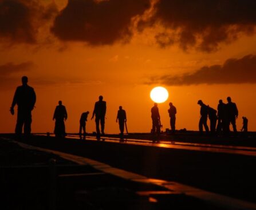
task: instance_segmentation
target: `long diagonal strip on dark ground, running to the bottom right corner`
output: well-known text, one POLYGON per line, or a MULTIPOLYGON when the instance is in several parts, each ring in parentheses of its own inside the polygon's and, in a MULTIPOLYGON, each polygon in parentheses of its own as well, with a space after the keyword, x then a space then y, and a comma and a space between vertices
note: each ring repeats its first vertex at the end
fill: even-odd
MULTIPOLYGON (((12 140, 11 140, 12 141, 12 140)), ((175 192, 175 193, 183 193, 184 195, 195 197, 196 199, 200 199, 202 201, 206 201, 209 204, 215 205, 219 208, 225 208, 225 209, 233 209, 233 210, 250 210, 250 209, 256 209, 256 204, 250 203, 247 201, 239 200, 239 199, 233 199, 228 196, 219 195, 217 193, 212 193, 208 191, 203 191, 202 189, 190 187, 188 185, 176 183, 173 181, 165 181, 165 180, 159 180, 159 179, 149 179, 145 176, 137 175, 136 173, 127 172, 122 169, 113 168, 110 165, 100 163, 99 161, 91 160, 86 157, 81 156, 75 156, 73 154, 58 152, 56 150, 50 150, 50 149, 43 149, 36 146, 31 146, 27 144, 23 144, 21 142, 13 141, 17 143, 18 145, 22 146, 25 149, 36 149, 41 150, 43 152, 53 153, 56 154, 66 160, 73 161, 74 163, 80 164, 80 165, 90 165, 95 169, 98 169, 102 172, 109 173, 111 175, 121 177, 125 180, 131 180, 139 183, 148 183, 148 184, 155 184, 160 187, 164 187, 168 189, 169 191, 175 192)))

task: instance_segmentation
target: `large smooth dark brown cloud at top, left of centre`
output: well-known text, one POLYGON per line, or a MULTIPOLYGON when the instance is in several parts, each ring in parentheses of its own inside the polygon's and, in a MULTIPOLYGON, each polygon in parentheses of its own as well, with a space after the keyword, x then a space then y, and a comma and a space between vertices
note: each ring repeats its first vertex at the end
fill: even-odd
POLYGON ((150 0, 69 0, 56 17, 52 32, 64 41, 110 45, 131 37, 132 18, 150 7, 150 0))

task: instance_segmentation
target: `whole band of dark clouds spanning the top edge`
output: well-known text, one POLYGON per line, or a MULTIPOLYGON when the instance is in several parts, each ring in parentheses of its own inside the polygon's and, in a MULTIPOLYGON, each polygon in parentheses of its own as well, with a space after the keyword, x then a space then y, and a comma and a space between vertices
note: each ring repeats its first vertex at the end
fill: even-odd
POLYGON ((64 42, 112 45, 151 28, 160 47, 211 52, 254 35, 255 11, 255 0, 69 0, 61 11, 54 1, 0 0, 0 41, 35 44, 47 24, 64 42))

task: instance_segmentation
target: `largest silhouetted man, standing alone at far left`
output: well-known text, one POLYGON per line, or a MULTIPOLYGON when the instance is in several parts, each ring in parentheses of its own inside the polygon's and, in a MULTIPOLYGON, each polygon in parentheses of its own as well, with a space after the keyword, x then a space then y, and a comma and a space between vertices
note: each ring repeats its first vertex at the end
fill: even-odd
POLYGON ((18 105, 17 123, 15 126, 15 133, 21 134, 24 125, 24 134, 31 133, 32 116, 31 111, 36 104, 36 93, 34 89, 27 85, 28 78, 23 76, 21 78, 22 85, 18 86, 14 93, 13 102, 11 104, 10 112, 14 115, 14 106, 18 105))

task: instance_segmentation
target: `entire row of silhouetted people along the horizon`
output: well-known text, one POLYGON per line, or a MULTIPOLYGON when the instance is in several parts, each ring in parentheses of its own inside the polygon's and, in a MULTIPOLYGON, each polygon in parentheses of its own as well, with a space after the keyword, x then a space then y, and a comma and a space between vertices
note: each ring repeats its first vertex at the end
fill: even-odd
MULTIPOLYGON (((36 93, 34 89, 27 85, 28 79, 26 76, 22 77, 22 85, 18 86, 15 91, 13 103, 11 104, 10 112, 14 114, 14 106, 18 106, 17 113, 17 124, 15 126, 15 133, 22 134, 22 128, 24 129, 25 134, 31 133, 31 111, 34 109, 34 105, 36 104, 36 93)), ((103 101, 103 96, 99 97, 99 101, 95 102, 94 110, 92 114, 91 120, 95 116, 96 123, 96 134, 99 137, 100 134, 104 133, 105 128, 105 114, 107 110, 107 103, 103 101), (101 127, 101 129, 100 129, 101 127)), ((209 105, 205 105, 202 100, 198 101, 198 104, 201 106, 200 108, 200 120, 199 120, 199 132, 203 132, 203 127, 207 133, 223 133, 228 134, 230 132, 230 124, 233 126, 234 133, 237 133, 237 125, 236 119, 238 118, 238 109, 237 105, 231 101, 230 97, 227 97, 227 104, 223 103, 222 100, 219 100, 218 108, 215 110, 211 108, 209 105), (207 125, 207 119, 210 120, 210 130, 207 125)), ((175 106, 170 102, 170 109, 168 109, 168 114, 170 117, 170 126, 171 132, 175 133, 175 122, 176 122, 176 113, 177 110, 175 106)), ((84 112, 80 117, 80 128, 79 134, 86 134, 86 121, 88 118, 89 112, 84 112)), ((58 101, 58 106, 53 114, 53 120, 55 120, 54 134, 56 137, 65 137, 65 120, 68 118, 68 113, 64 105, 62 105, 62 101, 58 101)), ((160 121, 160 114, 157 104, 151 108, 151 118, 152 118, 152 134, 160 134, 160 129, 162 128, 162 124, 160 121)), ((243 118, 243 127, 242 131, 247 132, 248 120, 246 117, 243 118)), ((119 106, 119 110, 117 112, 116 122, 119 122, 120 135, 124 134, 124 126, 127 130, 127 116, 126 112, 122 106, 119 106)))

